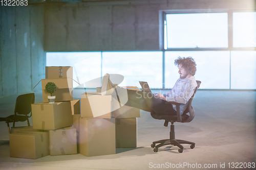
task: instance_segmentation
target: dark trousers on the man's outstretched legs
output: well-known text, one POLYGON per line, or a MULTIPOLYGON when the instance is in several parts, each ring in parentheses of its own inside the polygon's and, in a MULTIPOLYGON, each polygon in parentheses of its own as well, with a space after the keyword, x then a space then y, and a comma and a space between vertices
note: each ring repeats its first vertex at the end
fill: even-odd
POLYGON ((158 115, 176 115, 176 110, 171 104, 166 104, 165 100, 157 98, 151 92, 127 89, 128 100, 124 105, 135 107, 148 112, 155 112, 158 115))

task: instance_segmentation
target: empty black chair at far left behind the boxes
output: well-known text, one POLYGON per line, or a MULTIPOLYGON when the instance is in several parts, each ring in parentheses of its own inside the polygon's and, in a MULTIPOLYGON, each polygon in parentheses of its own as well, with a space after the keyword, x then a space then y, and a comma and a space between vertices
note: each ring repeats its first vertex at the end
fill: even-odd
POLYGON ((9 133, 11 133, 9 123, 13 123, 12 127, 14 128, 15 122, 25 122, 27 120, 28 126, 30 126, 29 117, 32 116, 31 104, 34 103, 34 93, 28 93, 17 96, 14 114, 7 117, 0 117, 0 122, 5 121, 7 123, 9 133), (31 114, 28 115, 29 113, 31 114))

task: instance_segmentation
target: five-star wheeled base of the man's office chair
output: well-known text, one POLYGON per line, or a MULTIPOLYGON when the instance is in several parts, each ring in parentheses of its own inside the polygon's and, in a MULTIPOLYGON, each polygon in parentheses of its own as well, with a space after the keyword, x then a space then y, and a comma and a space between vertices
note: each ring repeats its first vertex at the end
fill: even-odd
POLYGON ((179 151, 179 153, 182 153, 184 147, 181 144, 191 144, 190 148, 194 149, 196 143, 190 142, 187 140, 180 140, 180 139, 171 139, 171 140, 163 139, 163 140, 154 141, 153 144, 151 144, 151 148, 154 148, 154 152, 158 152, 158 148, 160 148, 164 145, 174 145, 174 146, 179 147, 180 149, 178 151, 179 151), (160 144, 156 145, 156 143, 160 143, 160 144))

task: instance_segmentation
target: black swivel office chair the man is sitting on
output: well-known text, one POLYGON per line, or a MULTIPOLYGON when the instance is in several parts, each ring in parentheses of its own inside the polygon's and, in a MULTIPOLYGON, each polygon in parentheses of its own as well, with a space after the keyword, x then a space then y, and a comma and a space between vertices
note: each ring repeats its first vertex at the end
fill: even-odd
POLYGON ((193 120, 193 118, 195 117, 195 111, 193 109, 193 107, 191 106, 192 100, 195 96, 195 93, 197 92, 197 89, 200 87, 201 81, 197 81, 197 87, 194 91, 194 94, 191 96, 191 98, 188 101, 188 105, 186 110, 183 112, 183 114, 180 113, 180 103, 176 103, 176 102, 166 102, 167 104, 175 104, 176 105, 176 110, 177 110, 177 115, 158 115, 155 112, 151 113, 151 116, 155 119, 164 119, 164 126, 167 127, 168 123, 172 123, 172 125, 170 125, 170 138, 169 139, 163 139, 163 140, 158 140, 158 141, 154 141, 153 144, 151 144, 151 147, 154 148, 154 152, 158 152, 158 148, 162 147, 163 145, 175 145, 177 147, 179 147, 180 149, 178 150, 179 153, 183 152, 183 146, 181 144, 191 144, 190 148, 193 149, 195 148, 195 143, 194 142, 190 142, 190 141, 186 141, 186 140, 180 140, 180 139, 175 139, 175 131, 174 131, 174 123, 175 122, 181 122, 181 123, 188 123, 191 122, 191 120, 193 120), (189 115, 187 115, 187 113, 189 113, 189 115), (160 143, 158 145, 156 145, 156 143, 160 143))

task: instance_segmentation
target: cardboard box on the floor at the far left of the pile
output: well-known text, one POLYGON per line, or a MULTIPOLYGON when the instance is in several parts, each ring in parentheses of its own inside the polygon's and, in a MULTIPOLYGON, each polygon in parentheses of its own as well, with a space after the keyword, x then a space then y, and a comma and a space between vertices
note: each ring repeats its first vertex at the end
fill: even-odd
POLYGON ((10 157, 37 159, 49 155, 48 132, 11 133, 10 157))

